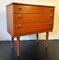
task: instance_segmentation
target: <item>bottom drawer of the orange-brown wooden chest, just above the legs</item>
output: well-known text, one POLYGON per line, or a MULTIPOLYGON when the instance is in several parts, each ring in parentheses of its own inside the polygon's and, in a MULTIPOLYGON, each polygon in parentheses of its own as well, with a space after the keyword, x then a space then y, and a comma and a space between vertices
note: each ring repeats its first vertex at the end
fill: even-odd
POLYGON ((14 33, 28 33, 34 31, 50 31, 52 30, 52 22, 47 23, 25 23, 25 24, 14 24, 14 33))

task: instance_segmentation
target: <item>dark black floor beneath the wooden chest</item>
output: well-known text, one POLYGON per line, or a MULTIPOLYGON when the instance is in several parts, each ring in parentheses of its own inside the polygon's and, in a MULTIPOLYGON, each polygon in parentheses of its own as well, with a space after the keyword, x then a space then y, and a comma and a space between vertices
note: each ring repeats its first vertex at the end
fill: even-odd
POLYGON ((49 41, 48 49, 45 41, 21 41, 20 57, 17 57, 16 42, 14 49, 11 41, 0 42, 0 60, 59 60, 59 40, 49 41))

